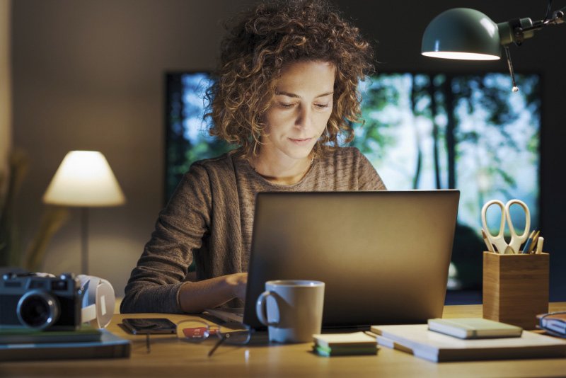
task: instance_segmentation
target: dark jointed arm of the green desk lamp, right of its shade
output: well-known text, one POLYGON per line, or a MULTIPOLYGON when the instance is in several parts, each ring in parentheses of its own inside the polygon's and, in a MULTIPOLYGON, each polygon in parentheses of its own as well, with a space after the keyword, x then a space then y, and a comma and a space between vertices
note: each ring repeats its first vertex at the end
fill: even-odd
POLYGON ((498 23, 497 28, 499 29, 501 44, 504 46, 509 45, 509 43, 521 45, 524 40, 532 38, 537 30, 541 30, 546 25, 564 23, 565 13, 566 6, 558 11, 554 11, 553 15, 545 20, 533 22, 531 18, 516 18, 504 23, 498 23))

